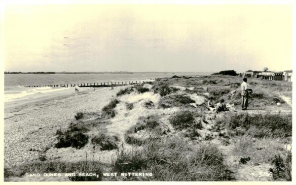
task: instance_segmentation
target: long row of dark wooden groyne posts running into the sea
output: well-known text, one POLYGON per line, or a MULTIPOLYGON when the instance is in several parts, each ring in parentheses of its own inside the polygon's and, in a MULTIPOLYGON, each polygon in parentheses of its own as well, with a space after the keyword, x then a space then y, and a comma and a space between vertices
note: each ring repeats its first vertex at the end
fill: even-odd
POLYGON ((101 88, 101 87, 116 87, 116 86, 127 86, 127 85, 134 85, 134 84, 141 84, 148 82, 148 80, 155 80, 156 78, 148 78, 143 79, 140 81, 121 81, 121 82, 101 82, 101 83, 83 83, 83 84, 57 84, 57 85, 38 85, 38 86, 27 86, 27 87, 52 87, 52 88, 69 88, 69 87, 79 87, 79 88, 101 88))

